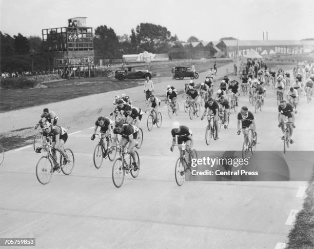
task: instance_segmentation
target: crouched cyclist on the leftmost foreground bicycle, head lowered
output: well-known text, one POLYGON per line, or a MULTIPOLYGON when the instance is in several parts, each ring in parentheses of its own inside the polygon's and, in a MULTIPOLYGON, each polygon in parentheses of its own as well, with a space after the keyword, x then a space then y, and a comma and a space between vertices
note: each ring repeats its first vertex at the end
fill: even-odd
MULTIPOLYGON (((43 122, 43 144, 46 143, 47 141, 47 136, 51 136, 52 137, 52 142, 51 142, 51 146, 52 146, 52 157, 55 159, 55 161, 57 161, 57 156, 55 153, 55 150, 57 150, 58 152, 60 152, 63 155, 64 161, 63 163, 66 164, 69 162, 69 158, 68 155, 66 153, 66 151, 64 150, 63 146, 65 144, 65 142, 68 139, 68 134, 66 129, 64 129, 61 126, 49 126, 48 122, 43 122)), ((36 152, 37 153, 41 153, 41 149, 42 148, 36 148, 36 152)), ((54 165, 54 170, 56 170, 57 168, 60 168, 60 165, 55 164, 54 165)))

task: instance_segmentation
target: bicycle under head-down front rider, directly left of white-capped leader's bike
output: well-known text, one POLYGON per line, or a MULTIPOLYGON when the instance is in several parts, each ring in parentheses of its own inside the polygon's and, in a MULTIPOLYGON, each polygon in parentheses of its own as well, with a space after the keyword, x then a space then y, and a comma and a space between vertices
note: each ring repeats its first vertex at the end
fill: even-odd
POLYGON ((125 160, 125 154, 127 154, 126 147, 125 146, 116 146, 117 149, 119 149, 120 156, 116 158, 112 165, 112 182, 116 186, 116 188, 120 188, 124 181, 125 173, 131 173, 131 176, 133 178, 138 177, 139 171, 140 171, 140 157, 139 153, 135 151, 136 157, 138 159, 138 164, 136 165, 136 168, 134 168, 133 165, 133 159, 131 154, 129 158, 129 164, 125 160))

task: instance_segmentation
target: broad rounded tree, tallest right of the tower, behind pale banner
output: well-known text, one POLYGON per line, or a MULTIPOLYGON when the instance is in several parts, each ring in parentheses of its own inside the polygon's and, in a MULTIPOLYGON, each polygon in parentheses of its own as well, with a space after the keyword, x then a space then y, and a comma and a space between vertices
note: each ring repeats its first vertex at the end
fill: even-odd
MULTIPOLYGON (((131 40, 132 36, 134 35, 131 35, 131 40)), ((166 27, 149 23, 136 26, 136 41, 141 51, 166 53, 171 39, 173 37, 166 27)))

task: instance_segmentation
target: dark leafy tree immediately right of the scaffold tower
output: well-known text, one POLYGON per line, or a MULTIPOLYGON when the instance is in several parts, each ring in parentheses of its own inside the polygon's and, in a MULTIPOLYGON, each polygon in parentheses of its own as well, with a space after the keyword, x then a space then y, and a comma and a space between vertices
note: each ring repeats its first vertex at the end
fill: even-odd
POLYGON ((112 28, 106 25, 95 29, 94 50, 97 56, 111 58, 121 58, 119 51, 119 39, 112 28))

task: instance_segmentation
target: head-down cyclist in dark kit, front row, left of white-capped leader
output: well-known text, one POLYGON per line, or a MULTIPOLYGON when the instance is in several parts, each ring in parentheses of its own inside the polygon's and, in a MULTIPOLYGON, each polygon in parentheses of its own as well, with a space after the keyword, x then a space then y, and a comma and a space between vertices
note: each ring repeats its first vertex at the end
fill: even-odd
POLYGON ((126 147, 128 144, 127 152, 130 153, 133 158, 132 165, 130 165, 131 169, 133 168, 133 171, 138 170, 138 159, 134 151, 136 138, 138 137, 138 128, 132 124, 124 123, 124 121, 120 119, 115 121, 114 126, 116 133, 122 135, 120 145, 126 147))

